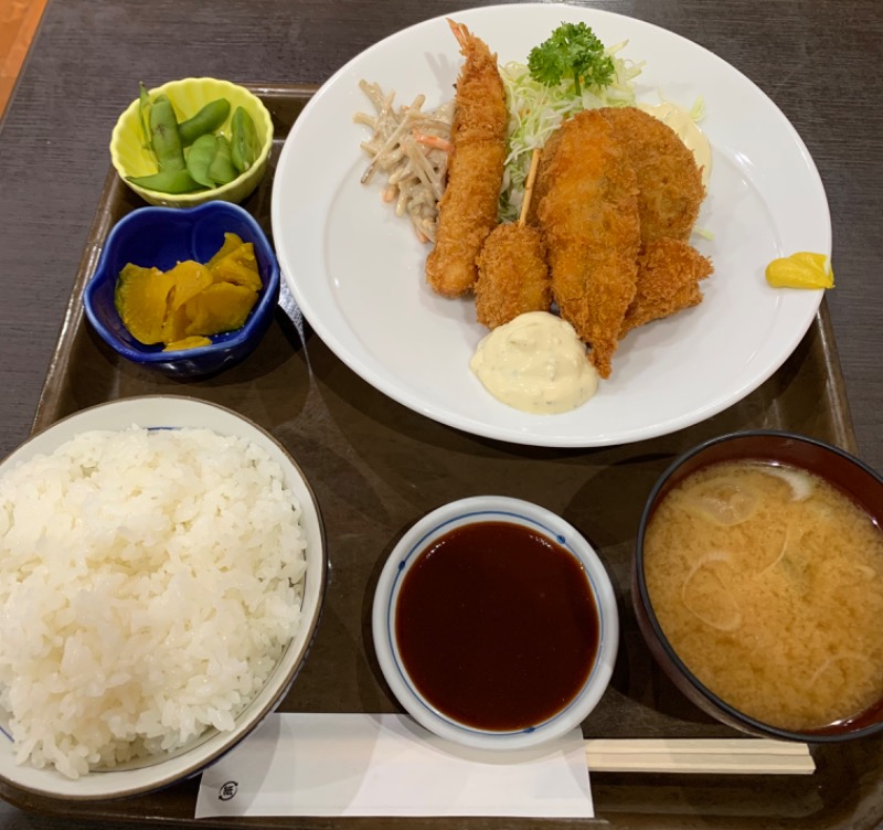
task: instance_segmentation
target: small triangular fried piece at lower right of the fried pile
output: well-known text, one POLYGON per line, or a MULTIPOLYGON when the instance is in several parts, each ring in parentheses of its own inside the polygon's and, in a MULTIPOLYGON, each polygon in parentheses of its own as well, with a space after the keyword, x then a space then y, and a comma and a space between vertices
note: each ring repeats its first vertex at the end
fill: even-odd
POLYGON ((702 302, 699 283, 713 272, 711 260, 680 240, 656 240, 638 257, 638 285, 619 337, 651 320, 702 302))

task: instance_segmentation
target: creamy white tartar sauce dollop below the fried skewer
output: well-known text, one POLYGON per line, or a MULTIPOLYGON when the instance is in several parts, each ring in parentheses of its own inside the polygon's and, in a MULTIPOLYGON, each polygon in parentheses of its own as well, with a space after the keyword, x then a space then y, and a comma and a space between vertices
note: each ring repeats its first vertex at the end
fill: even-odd
POLYGON ((538 415, 570 412, 598 386, 573 326, 547 311, 530 311, 493 329, 469 366, 498 401, 538 415))

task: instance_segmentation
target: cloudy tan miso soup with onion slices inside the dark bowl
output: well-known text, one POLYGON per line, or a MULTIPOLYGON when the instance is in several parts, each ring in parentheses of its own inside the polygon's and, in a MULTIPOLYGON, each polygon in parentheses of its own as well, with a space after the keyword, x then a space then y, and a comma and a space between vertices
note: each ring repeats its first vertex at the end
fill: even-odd
POLYGON ((745 714, 812 730, 883 698, 883 531, 818 476, 699 470, 657 508, 645 575, 679 657, 745 714))

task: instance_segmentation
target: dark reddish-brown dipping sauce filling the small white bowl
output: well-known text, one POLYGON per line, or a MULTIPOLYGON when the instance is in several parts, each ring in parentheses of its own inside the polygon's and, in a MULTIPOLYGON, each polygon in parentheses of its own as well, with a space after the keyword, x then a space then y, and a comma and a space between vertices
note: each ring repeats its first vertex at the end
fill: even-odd
POLYGON ((508 732, 547 721, 579 692, 598 651, 598 609, 564 547, 518 524, 479 522, 418 554, 395 636, 413 683, 442 714, 508 732))

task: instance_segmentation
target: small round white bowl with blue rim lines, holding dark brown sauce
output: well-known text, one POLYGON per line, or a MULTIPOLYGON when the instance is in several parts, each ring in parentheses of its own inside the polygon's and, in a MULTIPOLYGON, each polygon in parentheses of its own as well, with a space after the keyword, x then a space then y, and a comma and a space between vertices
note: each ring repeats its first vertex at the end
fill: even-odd
POLYGON ((374 594, 374 647, 398 702, 480 749, 561 737, 597 705, 619 617, 595 551, 519 499, 451 502, 411 526, 374 594))

